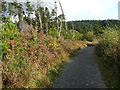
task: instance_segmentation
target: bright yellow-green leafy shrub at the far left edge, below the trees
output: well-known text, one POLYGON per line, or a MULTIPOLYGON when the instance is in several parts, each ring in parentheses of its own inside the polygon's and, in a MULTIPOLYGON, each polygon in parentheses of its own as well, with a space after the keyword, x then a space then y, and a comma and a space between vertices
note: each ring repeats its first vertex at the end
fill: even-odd
POLYGON ((18 35, 19 35, 19 31, 13 23, 8 22, 7 24, 1 26, 1 36, 2 37, 0 38, 0 40, 2 42, 0 42, 0 45, 2 46, 2 57, 3 58, 10 51, 10 40, 13 40, 13 42, 15 40, 16 45, 19 44, 18 43, 19 38, 17 38, 18 35), (6 41, 6 40, 8 40, 8 41, 6 41))

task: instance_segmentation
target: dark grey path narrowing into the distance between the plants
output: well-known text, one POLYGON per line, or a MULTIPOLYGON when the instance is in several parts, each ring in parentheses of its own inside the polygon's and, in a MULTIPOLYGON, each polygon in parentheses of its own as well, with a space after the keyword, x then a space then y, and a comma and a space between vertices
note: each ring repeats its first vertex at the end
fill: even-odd
POLYGON ((78 51, 65 66, 53 88, 106 88, 93 55, 94 47, 78 51))

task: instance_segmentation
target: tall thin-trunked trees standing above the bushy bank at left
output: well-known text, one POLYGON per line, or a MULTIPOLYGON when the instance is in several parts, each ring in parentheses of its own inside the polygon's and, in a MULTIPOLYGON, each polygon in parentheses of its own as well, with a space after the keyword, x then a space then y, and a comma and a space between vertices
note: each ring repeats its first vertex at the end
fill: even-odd
POLYGON ((11 21, 14 20, 14 23, 20 31, 27 30, 25 27, 28 24, 37 30, 37 32, 42 31, 48 33, 49 29, 55 28, 59 31, 60 36, 62 30, 66 29, 66 22, 64 12, 58 15, 56 3, 53 4, 54 8, 50 9, 43 7, 41 1, 32 4, 29 0, 25 3, 17 1, 6 2, 3 0, 0 2, 0 7, 2 8, 0 18, 3 24, 8 23, 9 19, 11 21))

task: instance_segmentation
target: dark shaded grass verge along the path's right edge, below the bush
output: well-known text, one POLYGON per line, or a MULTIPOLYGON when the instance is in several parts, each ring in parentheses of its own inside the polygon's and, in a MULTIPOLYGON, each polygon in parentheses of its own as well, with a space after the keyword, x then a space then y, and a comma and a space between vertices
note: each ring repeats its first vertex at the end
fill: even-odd
POLYGON ((94 54, 106 86, 108 88, 120 88, 118 67, 107 58, 97 56, 96 51, 94 54))

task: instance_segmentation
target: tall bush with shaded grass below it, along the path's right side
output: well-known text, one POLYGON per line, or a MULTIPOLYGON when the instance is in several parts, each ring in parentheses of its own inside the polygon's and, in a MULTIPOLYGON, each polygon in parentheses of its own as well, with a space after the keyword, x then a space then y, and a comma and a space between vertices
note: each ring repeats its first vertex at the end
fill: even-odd
POLYGON ((96 55, 106 84, 110 88, 119 88, 120 77, 120 31, 108 28, 100 36, 96 46, 96 55))

